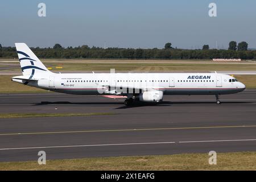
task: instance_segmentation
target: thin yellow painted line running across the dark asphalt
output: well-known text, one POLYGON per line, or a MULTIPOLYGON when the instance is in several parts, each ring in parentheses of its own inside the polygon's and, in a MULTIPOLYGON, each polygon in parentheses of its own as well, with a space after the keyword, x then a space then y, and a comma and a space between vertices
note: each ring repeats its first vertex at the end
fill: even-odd
POLYGON ((167 127, 154 129, 116 129, 116 130, 81 130, 81 131, 49 131, 35 133, 3 133, 0 136, 10 135, 43 135, 43 134, 68 134, 68 133, 98 133, 98 132, 117 132, 117 131, 156 131, 156 130, 192 130, 192 129, 223 129, 223 128, 241 128, 241 127, 256 127, 256 125, 245 126, 202 126, 202 127, 167 127))

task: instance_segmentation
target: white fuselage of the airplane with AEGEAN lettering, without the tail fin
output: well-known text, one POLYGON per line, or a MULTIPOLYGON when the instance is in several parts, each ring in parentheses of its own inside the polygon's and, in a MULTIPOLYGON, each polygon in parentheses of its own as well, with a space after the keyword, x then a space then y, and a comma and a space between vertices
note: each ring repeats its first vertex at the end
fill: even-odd
POLYGON ((108 94, 126 88, 161 90, 164 94, 232 94, 245 89, 235 78, 219 73, 53 73, 27 85, 68 94, 108 94), (230 81, 231 79, 231 81, 230 81))

